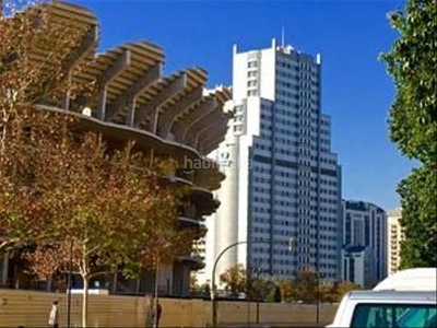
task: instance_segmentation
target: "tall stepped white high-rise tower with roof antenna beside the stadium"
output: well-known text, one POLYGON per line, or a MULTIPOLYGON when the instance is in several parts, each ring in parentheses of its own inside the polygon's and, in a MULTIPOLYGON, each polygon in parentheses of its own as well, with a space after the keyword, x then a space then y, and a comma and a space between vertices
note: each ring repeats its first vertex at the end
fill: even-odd
MULTIPOLYGON (((341 169, 321 113, 321 58, 277 47, 233 56, 235 115, 213 154, 226 179, 208 220, 206 267, 243 263, 271 278, 341 274, 341 169), (292 247, 291 247, 292 246, 292 247)), ((217 277, 216 276, 216 277, 217 277)))

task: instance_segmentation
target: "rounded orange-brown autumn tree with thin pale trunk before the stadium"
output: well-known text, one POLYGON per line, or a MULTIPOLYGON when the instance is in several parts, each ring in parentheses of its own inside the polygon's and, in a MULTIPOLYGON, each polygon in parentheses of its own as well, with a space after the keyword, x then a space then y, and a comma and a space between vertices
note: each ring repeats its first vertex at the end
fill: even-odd
POLYGON ((94 133, 72 137, 67 130, 61 142, 47 143, 40 152, 34 184, 46 190, 56 215, 42 227, 46 236, 35 241, 37 249, 26 259, 38 277, 67 271, 72 243, 73 269, 83 282, 82 327, 86 327, 93 278, 119 266, 126 277, 134 277, 142 268, 156 268, 175 251, 186 250, 192 239, 178 231, 178 192, 162 184, 162 173, 151 169, 141 153, 129 145, 108 154, 94 133))

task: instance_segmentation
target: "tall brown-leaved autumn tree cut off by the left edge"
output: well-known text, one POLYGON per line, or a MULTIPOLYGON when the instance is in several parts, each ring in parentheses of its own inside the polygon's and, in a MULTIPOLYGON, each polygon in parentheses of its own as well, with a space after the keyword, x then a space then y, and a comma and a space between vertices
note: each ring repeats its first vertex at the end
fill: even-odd
POLYGON ((42 238, 39 227, 52 214, 32 181, 36 153, 43 140, 59 136, 58 127, 73 121, 48 117, 35 105, 43 98, 59 103, 68 91, 81 92, 60 67, 82 34, 56 25, 47 8, 16 11, 28 2, 3 1, 13 15, 0 17, 0 254, 42 238), (47 56, 32 56, 42 50, 47 56))

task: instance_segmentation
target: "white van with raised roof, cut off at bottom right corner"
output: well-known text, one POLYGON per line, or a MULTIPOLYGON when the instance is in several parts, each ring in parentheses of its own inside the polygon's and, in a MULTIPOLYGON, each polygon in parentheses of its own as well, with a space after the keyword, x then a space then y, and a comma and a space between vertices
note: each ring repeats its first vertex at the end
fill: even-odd
POLYGON ((437 327, 436 272, 435 268, 400 271, 373 291, 347 293, 328 327, 437 327))

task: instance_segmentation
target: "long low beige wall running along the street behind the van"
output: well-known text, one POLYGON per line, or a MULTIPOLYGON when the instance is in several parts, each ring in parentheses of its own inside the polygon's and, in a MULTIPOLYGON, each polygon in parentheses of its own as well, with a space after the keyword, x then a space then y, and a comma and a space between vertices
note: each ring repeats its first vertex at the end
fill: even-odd
MULTIPOLYGON (((72 295, 71 326, 80 327, 81 295, 72 295)), ((0 290, 0 327, 45 327, 52 301, 59 301, 60 326, 67 323, 67 295, 56 293, 0 290)), ((161 327, 205 327, 210 303, 198 300, 162 298, 161 327)), ((150 298, 90 295, 88 327, 146 327, 150 298)), ((336 306, 320 305, 320 324, 332 321, 336 306)), ((220 302, 217 319, 244 325, 256 321, 257 305, 245 302, 220 302)), ((260 304, 260 323, 271 326, 315 326, 316 306, 303 304, 260 304)))

